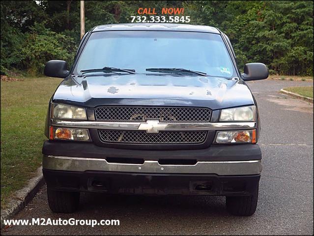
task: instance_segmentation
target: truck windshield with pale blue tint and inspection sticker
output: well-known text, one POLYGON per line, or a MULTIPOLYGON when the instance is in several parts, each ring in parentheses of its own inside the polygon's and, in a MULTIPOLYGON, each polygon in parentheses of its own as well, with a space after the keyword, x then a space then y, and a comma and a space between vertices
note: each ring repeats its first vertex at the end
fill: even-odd
POLYGON ((146 71, 147 68, 184 68, 210 76, 236 76, 221 36, 201 32, 93 32, 74 73, 82 74, 81 70, 105 66, 134 69, 136 73, 145 74, 158 73, 146 71))

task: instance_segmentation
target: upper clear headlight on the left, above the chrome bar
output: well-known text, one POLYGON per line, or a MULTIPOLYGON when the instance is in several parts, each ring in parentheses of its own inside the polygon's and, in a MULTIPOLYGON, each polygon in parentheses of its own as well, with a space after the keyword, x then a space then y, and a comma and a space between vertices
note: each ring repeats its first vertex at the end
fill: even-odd
POLYGON ((87 119, 85 108, 64 104, 52 104, 52 118, 87 119))

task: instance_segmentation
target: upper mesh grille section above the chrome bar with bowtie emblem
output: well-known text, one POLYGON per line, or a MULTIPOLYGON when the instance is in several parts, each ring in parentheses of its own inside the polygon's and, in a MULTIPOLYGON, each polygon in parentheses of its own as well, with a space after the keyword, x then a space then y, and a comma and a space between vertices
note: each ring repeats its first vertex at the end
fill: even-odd
POLYGON ((193 107, 97 107, 96 120, 145 121, 159 119, 167 122, 209 122, 211 110, 193 107))

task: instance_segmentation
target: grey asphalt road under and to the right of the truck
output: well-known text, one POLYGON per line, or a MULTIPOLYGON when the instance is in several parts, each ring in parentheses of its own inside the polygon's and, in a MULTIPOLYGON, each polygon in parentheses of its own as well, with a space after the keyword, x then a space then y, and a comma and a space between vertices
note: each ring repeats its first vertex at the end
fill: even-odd
POLYGON ((119 226, 13 226, 1 235, 313 235, 313 104, 279 93, 312 82, 248 82, 261 117, 257 211, 228 214, 225 197, 82 194, 73 214, 53 213, 43 186, 14 219, 118 219, 119 226))

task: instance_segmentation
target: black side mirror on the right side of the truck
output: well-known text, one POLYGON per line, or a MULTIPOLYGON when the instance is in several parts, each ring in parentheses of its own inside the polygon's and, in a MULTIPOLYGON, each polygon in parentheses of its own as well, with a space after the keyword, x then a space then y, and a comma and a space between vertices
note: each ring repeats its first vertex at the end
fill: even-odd
POLYGON ((244 66, 242 79, 244 81, 264 80, 268 77, 268 69, 263 63, 247 63, 244 66))

